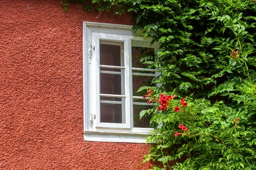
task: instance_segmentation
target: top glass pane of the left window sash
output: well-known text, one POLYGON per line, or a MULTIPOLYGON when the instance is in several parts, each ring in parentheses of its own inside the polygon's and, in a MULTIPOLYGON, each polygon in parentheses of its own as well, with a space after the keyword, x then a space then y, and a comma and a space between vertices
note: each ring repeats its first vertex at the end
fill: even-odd
POLYGON ((109 44, 109 43, 111 43, 111 42, 100 41, 99 64, 100 65, 124 66, 124 59, 123 59, 124 55, 121 54, 121 50, 123 49, 123 43, 115 42, 114 45, 109 44))

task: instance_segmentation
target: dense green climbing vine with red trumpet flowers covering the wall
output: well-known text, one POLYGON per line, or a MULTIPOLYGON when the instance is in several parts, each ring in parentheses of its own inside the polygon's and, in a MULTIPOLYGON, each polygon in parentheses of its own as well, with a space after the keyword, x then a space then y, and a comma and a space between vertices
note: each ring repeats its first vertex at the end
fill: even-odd
POLYGON ((141 59, 162 69, 160 87, 138 90, 157 103, 140 113, 157 143, 144 161, 157 161, 154 170, 256 169, 254 0, 92 0, 84 9, 132 12, 134 32, 160 44, 157 63, 141 59))

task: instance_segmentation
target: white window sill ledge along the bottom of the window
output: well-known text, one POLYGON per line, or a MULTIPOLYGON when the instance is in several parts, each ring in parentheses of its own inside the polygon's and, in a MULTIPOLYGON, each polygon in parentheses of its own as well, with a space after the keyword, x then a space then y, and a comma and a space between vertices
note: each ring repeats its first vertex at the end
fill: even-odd
POLYGON ((84 131, 85 141, 146 143, 150 133, 84 131))

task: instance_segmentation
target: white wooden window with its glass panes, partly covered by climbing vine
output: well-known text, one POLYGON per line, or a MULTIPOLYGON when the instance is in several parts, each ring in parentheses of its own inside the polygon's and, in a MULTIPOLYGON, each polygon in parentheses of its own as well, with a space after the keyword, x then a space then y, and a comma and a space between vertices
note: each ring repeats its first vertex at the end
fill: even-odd
POLYGON ((145 143, 153 130, 139 113, 151 107, 134 92, 160 74, 139 63, 154 60, 157 44, 126 25, 83 23, 84 140, 145 143))

